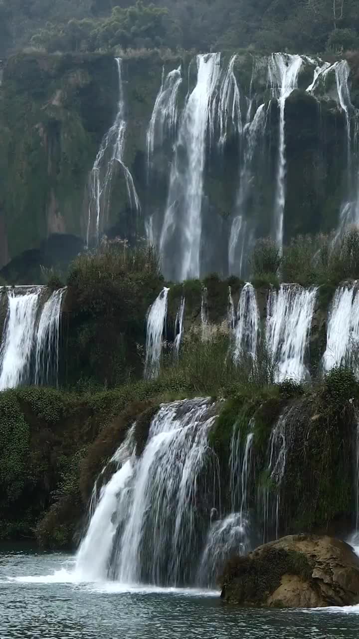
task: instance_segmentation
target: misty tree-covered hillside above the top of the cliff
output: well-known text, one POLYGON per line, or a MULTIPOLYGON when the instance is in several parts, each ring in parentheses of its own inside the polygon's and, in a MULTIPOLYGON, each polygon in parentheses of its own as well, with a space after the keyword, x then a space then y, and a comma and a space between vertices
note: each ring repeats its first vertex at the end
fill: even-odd
POLYGON ((24 47, 287 50, 359 47, 357 0, 0 0, 0 55, 24 47))

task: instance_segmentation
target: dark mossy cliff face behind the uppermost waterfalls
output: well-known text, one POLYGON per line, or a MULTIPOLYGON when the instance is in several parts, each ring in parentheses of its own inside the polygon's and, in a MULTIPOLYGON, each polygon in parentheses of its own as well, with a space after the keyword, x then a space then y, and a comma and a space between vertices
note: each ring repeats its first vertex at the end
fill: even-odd
MULTIPOLYGON (((229 58, 222 56, 221 59, 223 78, 227 73, 232 84, 227 98, 223 78, 213 93, 217 96, 213 99, 217 100, 219 96, 220 100, 222 96, 224 103, 213 111, 214 137, 211 127, 206 132, 200 206, 201 275, 215 271, 225 275, 229 270, 238 272, 237 264, 228 263, 236 216, 242 215, 243 220, 247 220, 246 246, 256 236, 275 234, 273 208, 279 161, 280 108, 275 99, 270 103, 273 95, 278 97, 277 89, 271 91, 267 63, 259 63, 259 60, 248 54, 238 55, 233 75, 229 76, 229 58), (257 68, 259 72, 254 71, 257 68), (240 94, 236 113, 232 107, 234 83, 240 94), (254 113, 262 103, 266 122, 259 131, 249 162, 248 123, 253 121, 254 113), (218 143, 220 118, 225 121, 224 144, 218 143), (246 188, 240 193, 244 182, 246 188)), ((2 265, 29 249, 41 249, 36 259, 50 264, 52 258, 46 253, 49 238, 51 242, 54 235, 63 238, 62 247, 70 241, 70 236, 77 238, 75 251, 87 239, 93 245, 102 233, 130 242, 147 235, 160 246, 164 213, 167 204, 171 204, 167 198, 171 167, 175 162, 181 188, 186 187, 187 173, 183 166, 190 153, 186 142, 188 132, 184 131, 178 139, 174 157, 176 125, 174 123, 172 129, 166 121, 161 125, 162 105, 155 121, 149 163, 146 135, 161 84, 164 82, 162 87, 165 88, 167 74, 177 68, 181 69, 181 82, 174 107, 178 109, 179 122, 187 91, 193 91, 197 82, 195 61, 190 57, 162 59, 153 52, 123 59, 120 87, 116 61, 109 56, 21 54, 8 60, 0 88, 2 265), (105 205, 100 204, 98 212, 95 204, 91 204, 89 175, 103 135, 114 122, 121 92, 125 122, 123 144, 121 142, 123 153, 112 162, 111 185, 105 194, 107 201, 105 205), (160 134, 160 125, 164 135, 160 134), (129 197, 127 169, 141 203, 137 211, 129 197)), ((340 108, 335 95, 335 78, 330 76, 328 86, 314 96, 307 91, 312 77, 313 69, 307 69, 303 61, 298 88, 286 101, 284 240, 298 233, 335 228, 340 206, 349 197, 346 112, 340 108)), ((355 102, 358 92, 354 73, 351 95, 355 102)), ((104 159, 108 167, 111 153, 104 159)), ((101 192, 102 187, 103 181, 101 192)), ((201 191, 201 187, 198 188, 201 191)), ((181 194, 178 202, 180 206, 181 194)), ((181 217, 180 212, 178 216, 181 217)), ((181 233, 175 225, 174 235, 172 239, 170 235, 167 242, 167 278, 179 279, 172 263, 183 254, 181 233)), ((27 259, 25 255, 25 262, 27 259)), ((238 258, 234 259, 236 261, 238 258)))

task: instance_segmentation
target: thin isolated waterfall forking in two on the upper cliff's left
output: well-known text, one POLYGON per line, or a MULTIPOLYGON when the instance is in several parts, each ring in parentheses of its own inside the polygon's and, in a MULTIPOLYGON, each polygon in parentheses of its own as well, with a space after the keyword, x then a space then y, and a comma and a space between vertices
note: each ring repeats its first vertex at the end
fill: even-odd
POLYGON ((134 185, 134 179, 123 162, 123 155, 125 151, 125 134, 126 134, 126 119, 125 119, 125 99, 123 96, 123 82, 122 82, 122 60, 116 58, 116 65, 118 70, 118 105, 116 118, 111 128, 103 136, 100 149, 96 155, 95 163, 93 165, 91 174, 89 176, 89 209, 88 209, 88 228, 86 234, 86 245, 89 246, 91 224, 93 223, 92 217, 95 215, 96 226, 96 243, 100 240, 100 231, 103 228, 103 224, 107 221, 111 204, 111 190, 112 181, 116 173, 116 165, 119 164, 123 170, 126 181, 126 189, 128 194, 128 200, 131 208, 134 208, 137 212, 140 208, 139 198, 134 185))

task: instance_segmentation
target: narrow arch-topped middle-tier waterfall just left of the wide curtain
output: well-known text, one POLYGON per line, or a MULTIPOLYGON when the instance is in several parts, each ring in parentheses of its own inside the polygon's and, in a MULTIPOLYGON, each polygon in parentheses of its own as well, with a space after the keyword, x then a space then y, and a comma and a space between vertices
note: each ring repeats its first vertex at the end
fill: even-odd
POLYGON ((256 359, 259 337, 259 309, 256 291, 249 282, 243 286, 238 302, 236 332, 234 335, 234 362, 239 363, 243 355, 256 359))

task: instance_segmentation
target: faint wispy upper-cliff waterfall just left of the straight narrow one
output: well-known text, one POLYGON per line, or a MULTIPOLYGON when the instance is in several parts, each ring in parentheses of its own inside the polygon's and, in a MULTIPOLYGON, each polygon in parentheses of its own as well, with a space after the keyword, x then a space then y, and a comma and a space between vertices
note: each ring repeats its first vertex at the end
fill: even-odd
MULTIPOLYGON (((229 235, 228 263, 229 273, 241 276, 243 270, 243 256, 245 253, 245 241, 247 231, 248 196, 254 184, 253 158, 259 135, 264 135, 266 128, 266 109, 261 104, 253 121, 244 129, 244 157, 240 174, 240 188, 238 190, 236 210, 239 215, 234 217, 231 233, 229 235), (239 242, 239 240, 241 241, 239 242)), ((246 247, 248 254, 248 247, 246 247)))

